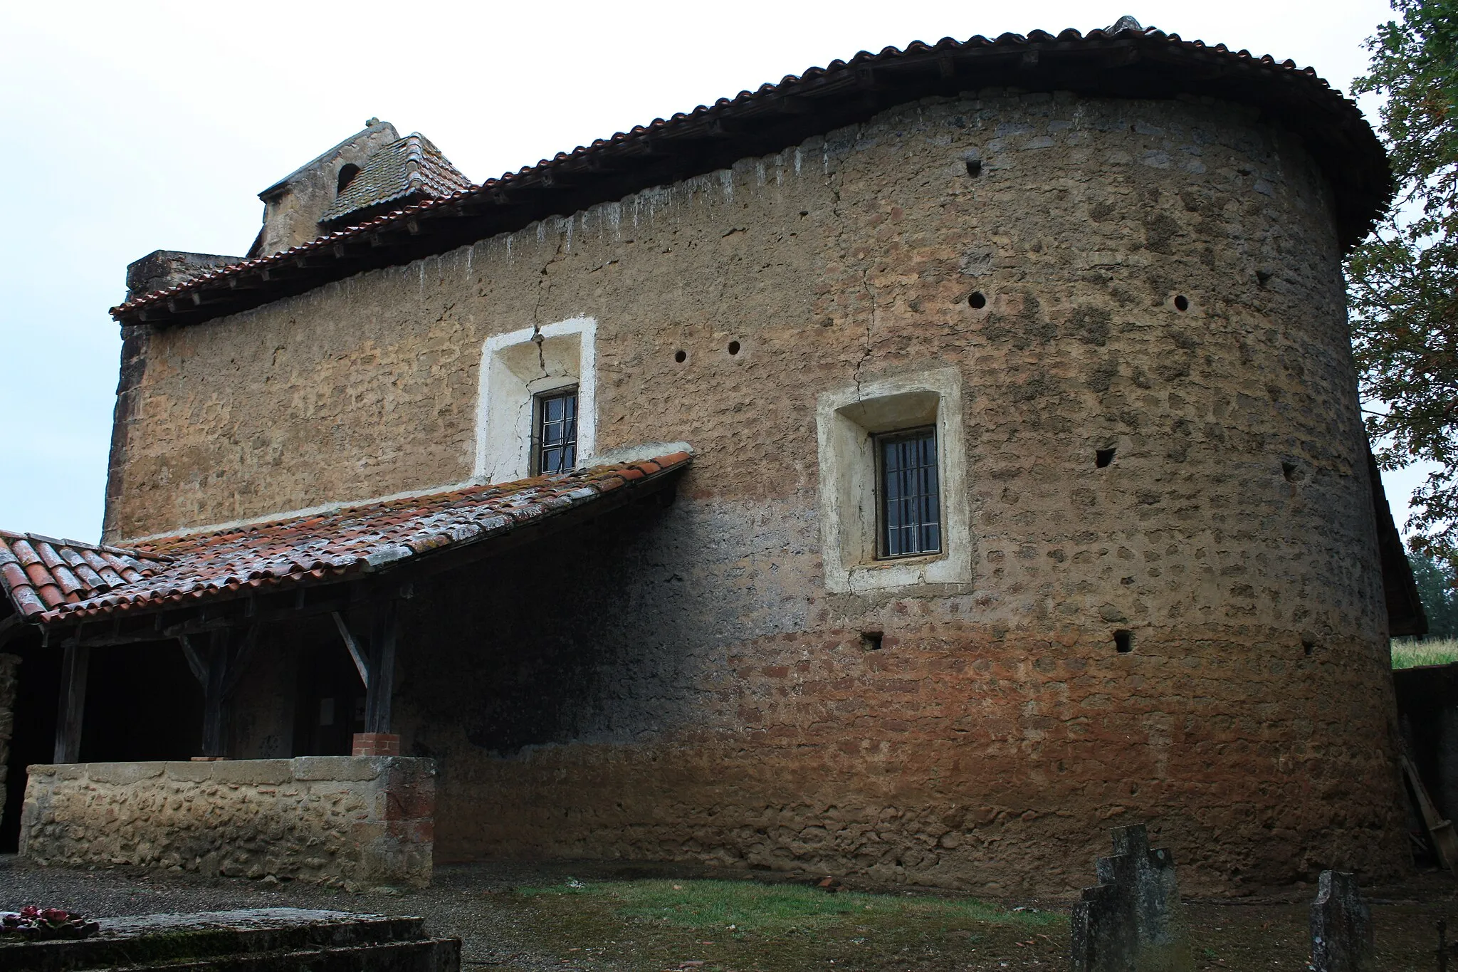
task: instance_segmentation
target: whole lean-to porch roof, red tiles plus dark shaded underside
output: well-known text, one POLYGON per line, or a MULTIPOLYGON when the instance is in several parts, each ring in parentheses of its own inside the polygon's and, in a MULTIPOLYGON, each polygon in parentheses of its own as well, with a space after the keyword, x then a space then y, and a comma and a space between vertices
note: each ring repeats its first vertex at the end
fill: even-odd
POLYGON ((671 495, 691 460, 690 452, 674 452, 465 484, 144 538, 130 548, 0 532, 0 597, 45 638, 89 644, 160 641, 241 618, 287 619, 671 495), (98 564, 90 574, 89 564, 98 564))

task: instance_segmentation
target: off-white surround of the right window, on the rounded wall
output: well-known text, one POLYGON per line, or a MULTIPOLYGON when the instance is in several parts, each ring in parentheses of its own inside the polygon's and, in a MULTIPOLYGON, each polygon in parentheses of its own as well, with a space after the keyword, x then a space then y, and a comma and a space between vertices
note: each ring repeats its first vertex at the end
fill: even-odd
POLYGON ((971 583, 962 373, 955 367, 903 375, 825 392, 815 404, 821 548, 825 587, 857 593, 913 584, 971 583), (936 427, 942 551, 876 560, 879 497, 875 437, 936 427))

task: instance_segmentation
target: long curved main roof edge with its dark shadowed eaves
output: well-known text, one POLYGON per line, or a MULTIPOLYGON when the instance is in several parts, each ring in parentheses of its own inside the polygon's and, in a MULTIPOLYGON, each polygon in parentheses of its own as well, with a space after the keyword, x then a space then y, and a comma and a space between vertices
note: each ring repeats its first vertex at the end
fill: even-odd
POLYGON ((111 313, 122 326, 187 325, 238 313, 779 152, 897 105, 999 86, 1107 98, 1216 98, 1254 106, 1299 137, 1331 181, 1343 249, 1368 235, 1392 198, 1387 153, 1356 103, 1293 61, 1184 41, 1155 28, 943 38, 904 51, 862 51, 659 118, 478 187, 144 294, 111 313))

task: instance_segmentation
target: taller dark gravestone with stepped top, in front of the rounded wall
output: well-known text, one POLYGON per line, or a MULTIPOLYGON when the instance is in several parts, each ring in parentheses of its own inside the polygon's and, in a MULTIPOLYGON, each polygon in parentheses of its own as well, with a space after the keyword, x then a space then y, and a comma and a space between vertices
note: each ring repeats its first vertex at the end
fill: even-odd
POLYGON ((1073 972, 1193 972, 1174 857, 1149 847, 1143 825, 1111 835, 1114 854, 1098 858, 1098 885, 1073 905, 1073 972))

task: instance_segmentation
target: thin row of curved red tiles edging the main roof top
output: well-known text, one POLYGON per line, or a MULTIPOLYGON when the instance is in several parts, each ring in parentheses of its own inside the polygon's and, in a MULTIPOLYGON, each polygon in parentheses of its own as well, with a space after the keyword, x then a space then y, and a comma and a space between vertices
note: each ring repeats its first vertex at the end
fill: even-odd
MULTIPOLYGON (((752 92, 741 90, 732 99, 720 98, 713 105, 698 105, 690 112, 677 112, 666 119, 655 118, 652 122, 646 125, 636 125, 625 133, 620 131, 608 138, 596 138, 590 144, 577 146, 572 152, 558 152, 551 159, 542 159, 537 165, 522 166, 518 172, 506 172, 499 178, 486 179, 480 185, 474 185, 468 189, 458 189, 449 195, 437 197, 433 200, 423 200, 420 203, 414 203, 411 205, 405 205, 398 210, 392 210, 389 213, 376 216, 359 224, 348 226, 346 229, 332 233, 325 233, 313 240, 300 243, 278 254, 270 254, 267 256, 245 259, 238 264, 230 264, 227 267, 222 267, 219 270, 200 274, 198 277, 194 277, 168 290, 156 290, 147 294, 141 294, 133 300, 111 307, 111 315, 112 318, 122 321, 125 324, 127 321, 124 321, 124 318, 131 316, 137 310, 144 310, 150 306, 168 303, 171 300, 175 300, 178 296, 201 290, 208 284, 219 283, 229 277, 236 277, 242 273, 254 270, 267 270, 270 267, 289 265, 293 264, 295 261, 300 261, 309 254, 315 254, 316 251, 327 249, 331 246, 338 246, 344 240, 357 236, 364 236, 369 233, 376 233, 392 226, 410 223, 411 220, 424 216, 432 210, 439 210, 443 207, 461 207, 464 203, 468 203, 475 198, 493 197, 493 194, 500 194, 504 189, 513 188, 515 184, 522 182, 525 179, 531 179, 532 176, 550 175, 550 172, 554 168, 561 166, 566 162, 576 162, 588 156, 601 153, 611 147, 618 147, 625 143, 642 141, 655 136, 662 136, 666 134, 674 127, 687 125, 690 122, 700 122, 706 119, 706 117, 709 115, 725 114, 726 109, 748 106, 755 102, 763 102, 767 99, 789 98, 795 93, 795 89, 811 86, 812 83, 828 79, 833 74, 841 74, 854 68, 873 67, 881 63, 891 61, 895 58, 903 58, 911 54, 936 54, 936 52, 948 52, 965 48, 1025 47, 1032 44, 1056 45, 1056 44, 1069 44, 1076 41, 1098 41, 1098 39, 1161 41, 1175 48, 1213 52, 1219 57, 1229 57, 1236 63, 1268 71, 1271 77, 1301 77, 1305 79, 1308 83, 1319 85, 1321 87, 1333 90, 1333 93, 1337 95, 1337 101, 1341 103, 1341 108, 1347 112, 1350 119, 1365 124, 1365 119, 1356 102, 1334 92, 1334 89, 1331 89, 1331 85, 1325 79, 1319 77, 1315 68, 1309 66, 1298 67, 1296 63, 1290 58, 1277 61, 1270 54, 1255 57, 1245 48, 1241 48, 1239 51, 1232 51, 1225 44, 1210 45, 1200 39, 1185 41, 1178 34, 1165 34, 1159 28, 1153 26, 1134 29, 1133 26, 1128 26, 1123 19, 1120 22, 1115 22, 1115 25, 1112 26, 1120 29, 1096 28, 1094 31, 1089 31, 1088 34, 1080 34, 1075 28, 1067 28, 1064 31, 1060 31, 1057 35, 1048 34, 1047 31, 1031 31, 1026 35, 1005 32, 997 35, 997 38, 994 39, 989 39, 981 34, 977 34, 968 38, 967 41, 956 41, 955 38, 948 36, 942 38, 936 44, 926 44, 924 41, 913 41, 905 47, 905 50, 897 47, 885 47, 875 54, 869 51, 859 51, 849 61, 834 60, 827 67, 811 67, 798 76, 786 74, 779 82, 767 82, 752 92)), ((1378 147, 1381 150, 1381 146, 1378 147)), ((1391 185, 1388 185, 1385 198, 1381 203, 1378 211, 1381 211, 1381 208, 1385 208, 1385 205, 1391 201, 1391 192, 1392 192, 1391 185)), ((1371 226, 1371 222, 1372 219, 1375 219, 1375 216, 1376 213, 1373 213, 1372 217, 1368 220, 1368 226, 1371 226)))

